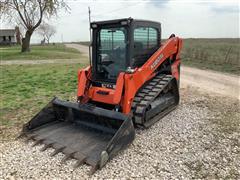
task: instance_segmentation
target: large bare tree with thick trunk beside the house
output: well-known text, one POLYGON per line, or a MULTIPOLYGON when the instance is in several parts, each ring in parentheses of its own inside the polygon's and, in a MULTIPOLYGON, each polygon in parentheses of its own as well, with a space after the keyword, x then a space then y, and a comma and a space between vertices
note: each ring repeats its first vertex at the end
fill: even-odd
POLYGON ((64 0, 0 0, 0 15, 20 23, 26 30, 22 52, 30 51, 31 36, 43 19, 57 15, 62 8, 69 9, 64 0))

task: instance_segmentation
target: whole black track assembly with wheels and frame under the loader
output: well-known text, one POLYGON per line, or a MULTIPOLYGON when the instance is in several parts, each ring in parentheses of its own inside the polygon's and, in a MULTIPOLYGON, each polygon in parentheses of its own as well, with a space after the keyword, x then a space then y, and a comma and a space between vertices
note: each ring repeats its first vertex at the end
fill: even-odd
POLYGON ((133 122, 149 127, 171 112, 179 103, 177 82, 172 75, 159 74, 148 81, 136 94, 133 104, 133 122))

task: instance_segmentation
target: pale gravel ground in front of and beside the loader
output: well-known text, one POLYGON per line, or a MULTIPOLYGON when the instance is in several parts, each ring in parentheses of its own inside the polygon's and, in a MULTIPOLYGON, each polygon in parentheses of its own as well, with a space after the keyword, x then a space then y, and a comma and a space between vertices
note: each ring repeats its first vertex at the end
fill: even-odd
POLYGON ((239 179, 240 126, 228 132, 218 124, 222 113, 239 115, 234 105, 239 101, 225 98, 225 107, 218 107, 223 112, 212 108, 220 103, 217 98, 193 88, 181 89, 181 93, 177 110, 151 128, 137 130, 133 144, 92 176, 87 165, 74 170, 75 160, 61 164, 63 154, 50 157, 53 149, 40 152, 42 146, 11 141, 0 145, 0 179, 239 179))

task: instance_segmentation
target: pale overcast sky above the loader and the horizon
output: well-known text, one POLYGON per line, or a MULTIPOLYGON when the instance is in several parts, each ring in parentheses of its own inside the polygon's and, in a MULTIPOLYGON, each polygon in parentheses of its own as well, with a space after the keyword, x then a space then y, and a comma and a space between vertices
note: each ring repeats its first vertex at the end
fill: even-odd
MULTIPOLYGON (((92 20, 132 17, 159 21, 162 36, 183 38, 236 38, 239 35, 238 0, 68 0, 71 12, 61 12, 51 24, 57 28, 54 41, 89 39, 88 6, 92 20)), ((34 36, 33 42, 40 37, 34 36)))

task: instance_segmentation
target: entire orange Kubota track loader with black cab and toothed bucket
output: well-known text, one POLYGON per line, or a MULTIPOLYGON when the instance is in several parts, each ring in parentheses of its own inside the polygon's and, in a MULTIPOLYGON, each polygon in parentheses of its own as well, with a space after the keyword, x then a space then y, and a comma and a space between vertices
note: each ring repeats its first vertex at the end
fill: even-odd
POLYGON ((76 102, 54 98, 21 136, 86 163, 92 172, 179 103, 182 40, 161 43, 158 22, 132 18, 92 22, 91 62, 78 72, 76 102))

